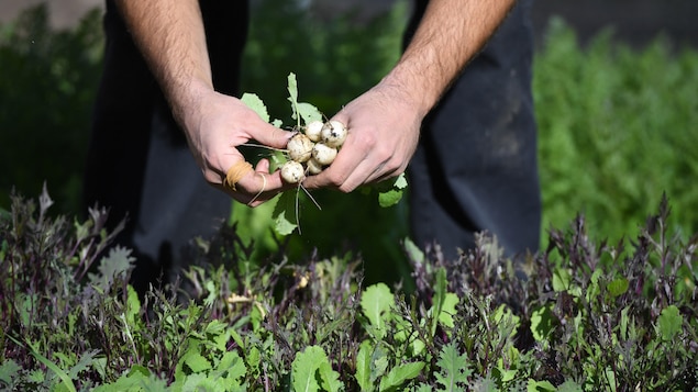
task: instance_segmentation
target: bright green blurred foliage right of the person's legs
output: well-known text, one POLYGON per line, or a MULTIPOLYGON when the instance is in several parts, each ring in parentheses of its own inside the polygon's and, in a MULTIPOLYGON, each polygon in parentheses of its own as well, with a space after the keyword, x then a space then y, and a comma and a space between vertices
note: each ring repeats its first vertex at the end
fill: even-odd
POLYGON ((580 47, 554 19, 534 72, 544 229, 581 212, 611 243, 634 237, 666 192, 673 229, 698 233, 695 48, 631 49, 610 30, 580 47))

